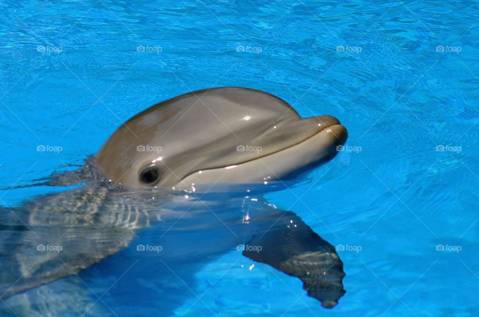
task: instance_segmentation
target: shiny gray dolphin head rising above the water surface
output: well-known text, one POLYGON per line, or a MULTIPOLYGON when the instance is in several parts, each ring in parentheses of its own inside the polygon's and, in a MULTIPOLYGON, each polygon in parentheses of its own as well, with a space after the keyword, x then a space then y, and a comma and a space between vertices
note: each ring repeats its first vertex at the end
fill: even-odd
POLYGON ((113 182, 126 186, 267 182, 330 160, 346 138, 332 116, 302 118, 268 93, 220 87, 133 116, 96 160, 113 182))

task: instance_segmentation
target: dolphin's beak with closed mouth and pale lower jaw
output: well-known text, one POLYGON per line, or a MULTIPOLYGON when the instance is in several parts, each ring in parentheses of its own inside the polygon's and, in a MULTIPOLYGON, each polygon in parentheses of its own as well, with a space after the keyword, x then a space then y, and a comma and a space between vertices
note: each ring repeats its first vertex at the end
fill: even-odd
POLYGON ((198 173, 207 183, 217 182, 219 176, 227 172, 231 176, 229 179, 235 179, 235 183, 290 179, 331 160, 348 137, 339 120, 326 115, 288 122, 281 130, 266 132, 256 139, 256 143, 252 143, 261 144, 266 150, 243 157, 240 161, 229 161, 228 165, 195 171, 182 178, 181 183, 195 183, 198 179, 192 176, 198 176, 198 173))

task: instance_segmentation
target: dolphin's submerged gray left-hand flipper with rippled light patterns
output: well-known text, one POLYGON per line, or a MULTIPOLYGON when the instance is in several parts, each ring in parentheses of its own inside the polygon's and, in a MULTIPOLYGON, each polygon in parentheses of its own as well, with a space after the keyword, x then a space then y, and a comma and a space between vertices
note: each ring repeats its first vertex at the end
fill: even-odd
POLYGON ((0 208, 0 299, 77 274, 127 246, 147 220, 117 205, 78 188, 0 208))

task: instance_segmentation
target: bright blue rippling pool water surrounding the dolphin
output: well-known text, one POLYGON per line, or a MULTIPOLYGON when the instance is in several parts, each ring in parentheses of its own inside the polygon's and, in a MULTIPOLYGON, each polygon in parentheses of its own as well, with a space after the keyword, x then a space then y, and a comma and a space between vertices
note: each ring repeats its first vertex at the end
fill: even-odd
MULTIPOLYGON (((232 250, 195 272, 170 316, 477 316, 477 2, 19 0, 0 8, 1 206, 61 190, 7 189, 80 164, 123 121, 189 91, 255 88, 347 127, 356 152, 266 196, 331 244, 360 249, 338 251, 347 291, 338 306, 321 308, 298 279, 265 265, 249 270, 246 258, 229 269, 239 259, 232 250)), ((105 290, 130 265, 108 280, 88 269, 81 277, 105 290)), ((144 285, 154 278, 141 273, 144 285)), ((92 302, 93 291, 84 290, 92 302)), ((128 312, 131 290, 109 292, 124 306, 98 301, 89 314, 128 312)), ((159 316, 158 301, 132 304, 129 314, 159 316)))

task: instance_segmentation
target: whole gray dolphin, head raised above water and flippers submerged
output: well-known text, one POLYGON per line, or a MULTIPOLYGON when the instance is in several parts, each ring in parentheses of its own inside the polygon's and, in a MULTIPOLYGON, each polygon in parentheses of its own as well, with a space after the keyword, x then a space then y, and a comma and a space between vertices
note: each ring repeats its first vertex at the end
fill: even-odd
POLYGON ((247 88, 201 90, 152 106, 79 169, 41 184, 74 189, 0 208, 0 299, 10 303, 118 256, 144 232, 161 232, 163 250, 149 258, 155 270, 158 260, 201 266, 241 243, 261 246, 242 255, 301 279, 310 297, 332 308, 345 293, 334 247, 257 189, 326 163, 346 138, 336 118, 302 118, 285 101, 247 88), (225 202, 204 198, 216 189, 225 202))

